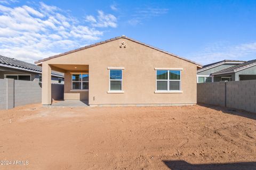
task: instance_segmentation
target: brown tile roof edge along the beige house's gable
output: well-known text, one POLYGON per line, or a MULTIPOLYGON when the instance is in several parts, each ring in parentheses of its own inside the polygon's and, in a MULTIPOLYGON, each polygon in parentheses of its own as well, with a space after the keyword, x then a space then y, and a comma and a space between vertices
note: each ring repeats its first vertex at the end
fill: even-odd
POLYGON ((137 41, 137 40, 135 40, 135 39, 128 38, 128 37, 126 37, 126 36, 124 36, 124 35, 119 36, 119 37, 115 37, 115 38, 111 38, 111 39, 107 39, 106 41, 102 41, 102 42, 99 42, 99 43, 87 45, 87 46, 84 46, 84 47, 81 47, 81 48, 77 48, 76 50, 71 50, 71 51, 68 51, 68 52, 65 52, 65 53, 61 53, 61 54, 58 54, 58 55, 50 56, 49 58, 45 58, 45 59, 43 59, 43 60, 38 60, 38 61, 36 61, 35 63, 36 63, 36 64, 39 64, 39 63, 41 63, 41 62, 44 62, 44 61, 47 61, 47 60, 51 60, 51 59, 57 58, 57 57, 62 56, 62 55, 74 53, 74 52, 76 52, 76 51, 81 51, 81 50, 84 50, 84 49, 86 49, 86 48, 90 48, 90 47, 97 46, 97 45, 100 45, 100 44, 105 44, 105 43, 108 43, 108 42, 111 42, 111 41, 115 41, 116 39, 121 39, 121 38, 128 39, 128 40, 130 40, 130 41, 132 41, 132 42, 139 43, 139 44, 141 44, 141 45, 145 45, 145 46, 147 46, 147 47, 153 48, 154 50, 161 51, 161 52, 163 52, 163 53, 166 53, 166 54, 175 56, 175 57, 177 57, 177 58, 179 58, 179 59, 186 60, 186 61, 188 61, 188 62, 194 63, 194 64, 196 64, 198 67, 202 67, 201 64, 198 64, 198 63, 196 63, 196 62, 194 62, 194 61, 191 61, 191 60, 188 60, 188 59, 185 59, 185 58, 181 58, 181 57, 178 56, 178 55, 175 55, 175 54, 166 52, 166 51, 164 51, 164 50, 161 50, 161 49, 159 49, 159 48, 153 47, 153 46, 148 45, 148 44, 145 44, 145 43, 141 43, 141 42, 139 42, 139 41, 137 41))

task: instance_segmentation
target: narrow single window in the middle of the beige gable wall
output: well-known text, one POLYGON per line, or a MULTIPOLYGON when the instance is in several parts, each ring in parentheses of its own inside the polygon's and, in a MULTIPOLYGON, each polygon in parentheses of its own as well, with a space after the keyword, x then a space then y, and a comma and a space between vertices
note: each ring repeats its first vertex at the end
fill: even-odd
POLYGON ((109 70, 109 90, 122 91, 123 70, 109 70))

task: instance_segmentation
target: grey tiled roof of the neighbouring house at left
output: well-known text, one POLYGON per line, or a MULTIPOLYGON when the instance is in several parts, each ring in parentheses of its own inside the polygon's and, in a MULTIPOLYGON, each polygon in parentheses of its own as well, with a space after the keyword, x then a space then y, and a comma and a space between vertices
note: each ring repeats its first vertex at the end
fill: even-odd
MULTIPOLYGON (((0 55, 0 66, 10 66, 15 69, 22 69, 31 72, 42 72, 42 67, 36 66, 36 64, 31 64, 25 61, 20 61, 14 58, 9 58, 7 56, 0 55)), ((64 74, 57 71, 52 71, 52 75, 63 77, 64 74)))

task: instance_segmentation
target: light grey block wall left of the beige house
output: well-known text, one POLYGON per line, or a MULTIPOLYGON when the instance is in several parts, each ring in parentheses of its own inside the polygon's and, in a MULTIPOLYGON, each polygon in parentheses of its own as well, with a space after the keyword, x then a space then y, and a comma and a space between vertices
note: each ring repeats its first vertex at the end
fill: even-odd
MULTIPOLYGON (((52 84, 52 98, 63 99, 63 84, 52 84)), ((31 103, 41 103, 42 83, 0 79, 0 109, 12 109, 31 103)))

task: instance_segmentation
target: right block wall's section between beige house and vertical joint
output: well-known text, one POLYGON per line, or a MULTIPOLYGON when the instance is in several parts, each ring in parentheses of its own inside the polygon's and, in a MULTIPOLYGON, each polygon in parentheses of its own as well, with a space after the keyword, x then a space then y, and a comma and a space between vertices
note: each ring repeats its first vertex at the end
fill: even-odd
POLYGON ((197 102, 225 106, 225 82, 198 83, 197 102))

